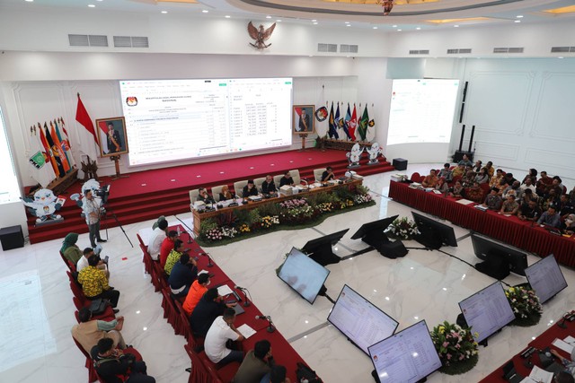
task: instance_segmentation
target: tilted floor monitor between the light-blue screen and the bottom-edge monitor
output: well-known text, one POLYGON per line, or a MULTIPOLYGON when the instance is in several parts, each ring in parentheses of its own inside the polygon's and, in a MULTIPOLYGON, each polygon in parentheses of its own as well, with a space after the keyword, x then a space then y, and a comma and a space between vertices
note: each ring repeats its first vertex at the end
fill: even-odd
POLYGON ((347 284, 341 289, 327 320, 361 351, 394 335, 399 323, 355 292, 347 284))

